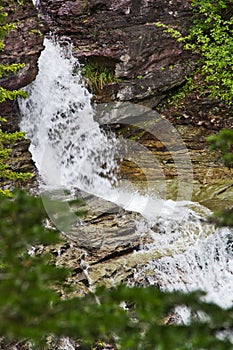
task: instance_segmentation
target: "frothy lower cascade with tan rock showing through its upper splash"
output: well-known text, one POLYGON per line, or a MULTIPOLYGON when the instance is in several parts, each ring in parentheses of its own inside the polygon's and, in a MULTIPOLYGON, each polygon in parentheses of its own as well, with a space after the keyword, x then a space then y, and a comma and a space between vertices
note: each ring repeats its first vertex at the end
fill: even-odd
MULTIPOLYGON (((150 251, 161 258, 152 257, 146 266, 135 272, 135 279, 145 276, 151 285, 164 291, 201 290, 206 293, 206 301, 223 308, 231 307, 233 230, 210 224, 206 220, 210 214, 210 210, 195 204, 195 211, 188 210, 182 222, 169 217, 144 222, 141 231, 149 225, 153 242, 139 254, 150 251)), ((180 308, 177 313, 183 322, 188 321, 186 308, 180 308)))

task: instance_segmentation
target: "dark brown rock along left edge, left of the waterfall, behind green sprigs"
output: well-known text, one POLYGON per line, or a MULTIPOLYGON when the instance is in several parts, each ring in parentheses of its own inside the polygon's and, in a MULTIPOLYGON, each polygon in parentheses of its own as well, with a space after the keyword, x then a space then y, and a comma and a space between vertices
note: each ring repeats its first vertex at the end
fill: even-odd
MULTIPOLYGON (((4 51, 0 52, 1 64, 24 63, 25 66, 18 74, 8 75, 0 79, 0 86, 15 90, 30 84, 38 72, 37 61, 43 50, 43 33, 46 28, 38 17, 38 12, 32 1, 23 1, 19 5, 16 1, 1 1, 3 11, 8 13, 6 21, 15 23, 16 28, 4 38, 4 51)), ((4 131, 14 132, 19 129, 19 111, 16 101, 7 100, 0 104, 0 116, 7 119, 2 123, 4 131)), ((35 165, 28 151, 29 140, 18 140, 12 145, 9 167, 16 172, 35 173, 35 165)), ((35 180, 33 177, 28 183, 12 183, 5 181, 1 188, 12 189, 15 186, 29 186, 35 180)))

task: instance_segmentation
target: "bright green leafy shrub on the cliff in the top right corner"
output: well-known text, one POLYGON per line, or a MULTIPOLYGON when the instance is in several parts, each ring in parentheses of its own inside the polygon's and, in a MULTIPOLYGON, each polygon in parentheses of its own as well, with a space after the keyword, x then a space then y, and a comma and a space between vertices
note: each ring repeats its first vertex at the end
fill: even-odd
MULTIPOLYGON (((179 30, 158 22, 179 42, 184 49, 191 50, 197 56, 195 74, 202 79, 187 78, 187 84, 178 97, 195 89, 200 96, 210 95, 227 104, 233 103, 233 11, 232 0, 192 0, 194 19, 187 36, 179 30)), ((177 96, 175 96, 177 98, 177 96)))

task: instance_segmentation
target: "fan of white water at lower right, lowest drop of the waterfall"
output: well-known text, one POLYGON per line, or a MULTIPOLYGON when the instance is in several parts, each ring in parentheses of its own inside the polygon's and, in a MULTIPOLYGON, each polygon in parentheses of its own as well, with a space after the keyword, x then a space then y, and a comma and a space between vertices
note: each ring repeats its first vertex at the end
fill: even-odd
MULTIPOLYGON (((164 235, 163 235, 164 236, 164 235)), ((175 236, 175 234, 174 234, 175 236)), ((206 237, 206 232, 187 244, 179 254, 152 260, 143 271, 152 285, 162 290, 206 292, 205 300, 215 302, 223 308, 233 304, 233 239, 232 230, 216 229, 206 237), (154 271, 154 275, 149 271, 154 271)), ((158 236, 150 249, 158 247, 158 236)), ((171 239, 171 238, 170 238, 171 239)), ((167 237, 167 240, 169 238, 167 237)))

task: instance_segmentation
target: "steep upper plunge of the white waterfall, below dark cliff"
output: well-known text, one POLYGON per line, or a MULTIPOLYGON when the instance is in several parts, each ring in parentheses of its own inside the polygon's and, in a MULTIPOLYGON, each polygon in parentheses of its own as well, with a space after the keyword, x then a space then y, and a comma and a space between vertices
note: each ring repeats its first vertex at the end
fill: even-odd
POLYGON ((116 141, 94 121, 92 96, 78 68, 70 45, 62 49, 45 40, 39 74, 27 89, 29 98, 20 101, 21 129, 47 188, 106 194, 115 181, 116 141))

